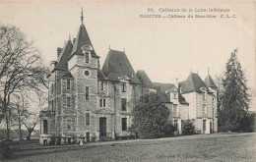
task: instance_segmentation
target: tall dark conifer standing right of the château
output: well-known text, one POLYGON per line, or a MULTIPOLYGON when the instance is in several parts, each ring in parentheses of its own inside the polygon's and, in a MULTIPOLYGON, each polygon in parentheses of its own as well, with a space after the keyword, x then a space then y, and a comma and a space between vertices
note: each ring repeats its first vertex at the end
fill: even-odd
POLYGON ((249 94, 244 72, 235 49, 225 66, 224 95, 219 112, 220 131, 241 131, 241 120, 247 115, 249 94))

